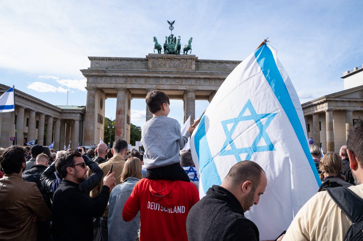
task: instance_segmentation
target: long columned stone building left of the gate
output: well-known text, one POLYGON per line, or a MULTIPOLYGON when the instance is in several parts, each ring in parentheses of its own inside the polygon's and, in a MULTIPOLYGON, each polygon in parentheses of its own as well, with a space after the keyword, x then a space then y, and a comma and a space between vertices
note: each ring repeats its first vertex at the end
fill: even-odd
MULTIPOLYGON (((0 96, 9 88, 0 84, 0 96)), ((15 116, 14 112, 0 113, 0 147, 15 145, 15 141, 9 139, 15 137, 14 118, 17 145, 23 146, 35 139, 36 144, 46 146, 54 142, 54 150, 63 150, 70 141, 73 149, 78 146, 78 142, 83 144, 85 106, 56 106, 17 89, 14 94, 15 116)))

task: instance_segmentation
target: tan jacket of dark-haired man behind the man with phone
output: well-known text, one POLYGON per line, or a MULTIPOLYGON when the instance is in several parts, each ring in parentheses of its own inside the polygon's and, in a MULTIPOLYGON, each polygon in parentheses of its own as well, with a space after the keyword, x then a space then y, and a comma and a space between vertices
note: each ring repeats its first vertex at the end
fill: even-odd
MULTIPOLYGON (((98 193, 101 191, 102 186, 103 186, 103 178, 107 175, 107 173, 110 171, 111 169, 111 164, 113 164, 113 169, 112 171, 115 172, 115 183, 116 185, 121 183, 121 173, 123 170, 123 166, 125 165, 125 158, 123 158, 121 155, 116 155, 113 156, 112 158, 110 158, 107 162, 103 162, 101 164, 99 164, 99 168, 102 169, 103 171, 103 176, 101 181, 98 183, 98 185, 93 188, 93 190, 91 191, 91 198, 94 198, 95 196, 98 195, 98 193)), ((102 215, 103 217, 108 217, 109 216, 109 209, 106 207, 105 213, 103 213, 102 215)))

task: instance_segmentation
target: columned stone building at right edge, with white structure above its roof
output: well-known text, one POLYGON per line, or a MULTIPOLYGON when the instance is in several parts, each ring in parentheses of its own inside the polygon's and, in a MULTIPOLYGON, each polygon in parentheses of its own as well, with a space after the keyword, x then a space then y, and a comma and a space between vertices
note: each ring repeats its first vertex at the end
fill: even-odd
POLYGON ((339 152, 351 126, 363 119, 362 70, 360 66, 343 73, 343 91, 302 104, 308 137, 325 152, 339 152))

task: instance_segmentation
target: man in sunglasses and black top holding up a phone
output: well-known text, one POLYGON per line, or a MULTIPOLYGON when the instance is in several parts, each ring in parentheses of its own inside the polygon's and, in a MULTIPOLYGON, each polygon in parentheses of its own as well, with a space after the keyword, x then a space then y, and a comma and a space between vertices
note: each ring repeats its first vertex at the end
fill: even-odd
POLYGON ((91 199, 79 189, 79 184, 86 180, 88 170, 79 151, 61 155, 56 162, 56 170, 63 180, 53 195, 54 240, 91 241, 92 217, 102 216, 106 209, 109 193, 115 186, 114 172, 103 178, 101 192, 91 199))

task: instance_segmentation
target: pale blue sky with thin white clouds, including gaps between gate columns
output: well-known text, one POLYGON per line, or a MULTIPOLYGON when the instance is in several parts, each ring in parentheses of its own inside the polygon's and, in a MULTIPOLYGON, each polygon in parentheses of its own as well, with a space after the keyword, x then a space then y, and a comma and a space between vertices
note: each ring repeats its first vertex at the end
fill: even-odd
MULTIPOLYGON (((301 103, 343 90, 363 64, 362 1, 1 1, 0 83, 54 105, 85 105, 88 56, 145 57, 152 37, 173 33, 200 59, 243 60, 269 37, 301 103)), ((207 107, 196 102, 196 116, 207 107)), ((107 99, 114 118, 116 99, 107 99)), ((145 121, 144 100, 131 122, 145 121)), ((183 122, 183 101, 170 117, 183 122)))

